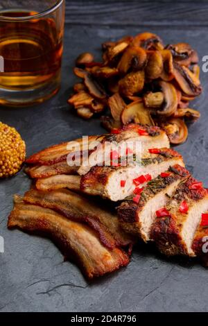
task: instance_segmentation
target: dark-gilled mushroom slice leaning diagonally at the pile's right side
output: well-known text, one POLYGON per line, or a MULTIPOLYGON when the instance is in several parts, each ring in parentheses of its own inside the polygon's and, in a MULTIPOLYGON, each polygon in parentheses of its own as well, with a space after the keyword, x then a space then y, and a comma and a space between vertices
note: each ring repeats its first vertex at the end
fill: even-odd
POLYGON ((176 62, 174 65, 174 76, 177 84, 182 89, 184 94, 189 96, 197 96, 202 92, 202 87, 200 86, 200 80, 189 68, 185 66, 180 66, 176 62))

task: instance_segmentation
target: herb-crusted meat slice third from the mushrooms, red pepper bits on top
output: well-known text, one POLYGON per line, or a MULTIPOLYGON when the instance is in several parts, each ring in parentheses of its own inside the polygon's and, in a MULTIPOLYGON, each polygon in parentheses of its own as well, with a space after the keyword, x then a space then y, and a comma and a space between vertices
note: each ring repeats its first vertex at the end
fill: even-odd
POLYGON ((176 164, 149 181, 139 197, 135 194, 136 202, 132 198, 121 203, 118 215, 123 230, 137 234, 144 241, 150 240, 151 225, 156 218, 155 211, 166 205, 177 185, 188 176, 189 171, 176 164))

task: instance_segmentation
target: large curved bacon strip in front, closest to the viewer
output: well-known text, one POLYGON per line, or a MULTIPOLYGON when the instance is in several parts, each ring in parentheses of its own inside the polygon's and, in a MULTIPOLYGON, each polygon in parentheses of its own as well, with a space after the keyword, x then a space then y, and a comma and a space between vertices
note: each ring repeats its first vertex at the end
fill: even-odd
POLYGON ((88 225, 70 221, 51 209, 17 203, 8 218, 8 228, 46 234, 58 243, 65 257, 78 261, 88 278, 116 271, 130 260, 119 248, 105 248, 88 225))

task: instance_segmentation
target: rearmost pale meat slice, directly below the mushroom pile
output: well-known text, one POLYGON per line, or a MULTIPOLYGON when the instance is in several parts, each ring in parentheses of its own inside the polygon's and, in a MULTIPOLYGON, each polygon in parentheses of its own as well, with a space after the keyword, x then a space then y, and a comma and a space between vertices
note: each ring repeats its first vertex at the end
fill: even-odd
MULTIPOLYGON (((132 148, 133 153, 144 155, 149 148, 169 148, 170 143, 166 132, 156 126, 140 126, 134 123, 123 126, 113 135, 106 135, 101 141, 101 146, 89 153, 89 164, 81 164, 78 174, 85 175, 93 166, 103 165, 103 157, 110 156, 112 149, 132 148), (139 146, 137 146, 138 144, 139 146), (114 145, 112 147, 112 145, 114 145)), ((122 151, 122 150, 121 150, 122 151)))

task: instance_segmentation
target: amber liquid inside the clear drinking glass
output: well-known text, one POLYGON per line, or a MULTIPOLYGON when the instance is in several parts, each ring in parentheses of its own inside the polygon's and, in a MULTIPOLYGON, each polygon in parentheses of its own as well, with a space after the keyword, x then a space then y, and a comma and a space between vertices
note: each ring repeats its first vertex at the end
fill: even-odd
MULTIPOLYGON (((35 13, 12 11, 0 15, 24 17, 35 13)), ((4 60, 1 89, 36 89, 60 78, 62 38, 51 18, 26 22, 0 20, 0 55, 4 60)))

